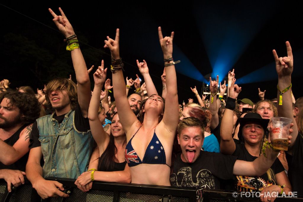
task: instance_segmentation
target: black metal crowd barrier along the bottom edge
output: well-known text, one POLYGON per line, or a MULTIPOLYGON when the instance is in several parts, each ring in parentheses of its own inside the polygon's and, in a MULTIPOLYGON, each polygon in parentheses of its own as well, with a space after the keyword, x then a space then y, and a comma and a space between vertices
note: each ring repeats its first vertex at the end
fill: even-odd
MULTIPOLYGON (((155 186, 145 184, 128 184, 128 183, 107 183, 95 181, 92 190, 84 193, 74 184, 75 179, 67 178, 47 178, 56 180, 64 185, 65 193, 69 194, 67 198, 48 198, 40 200, 37 198, 35 190, 28 180, 25 184, 13 188, 11 193, 7 191, 5 181, 0 181, 0 198, 2 202, 27 202, 27 201, 49 201, 49 202, 75 202, 75 201, 120 201, 120 202, 137 202, 137 201, 165 201, 165 202, 191 202, 196 201, 195 189, 155 186)), ((233 191, 225 190, 200 190, 203 196, 203 202, 224 202, 224 201, 259 201, 258 197, 235 197, 233 191)), ((303 198, 277 198, 275 201, 303 201, 303 198)))

